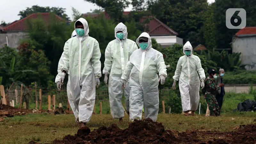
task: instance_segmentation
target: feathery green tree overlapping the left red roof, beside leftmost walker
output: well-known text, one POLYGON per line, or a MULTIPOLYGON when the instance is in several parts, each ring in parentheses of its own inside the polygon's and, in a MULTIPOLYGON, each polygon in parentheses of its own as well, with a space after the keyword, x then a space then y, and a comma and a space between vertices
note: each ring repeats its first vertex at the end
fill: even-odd
POLYGON ((50 73, 57 75, 57 66, 65 42, 70 38, 74 25, 68 26, 65 22, 50 17, 50 23, 46 23, 40 15, 37 19, 28 20, 28 36, 36 42, 35 50, 43 50, 48 60, 51 61, 50 73))

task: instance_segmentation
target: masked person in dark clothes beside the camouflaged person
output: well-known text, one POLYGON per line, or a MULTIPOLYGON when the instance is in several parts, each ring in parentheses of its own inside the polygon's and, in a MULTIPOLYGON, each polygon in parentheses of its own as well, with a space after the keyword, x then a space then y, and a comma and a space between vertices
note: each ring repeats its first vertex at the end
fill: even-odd
MULTIPOLYGON (((225 74, 224 69, 220 68, 219 75, 217 76, 217 79, 215 79, 215 85, 223 84, 222 77, 224 76, 224 74, 225 74)), ((222 107, 224 95, 225 95, 225 89, 224 89, 224 86, 222 86, 220 87, 220 90, 218 90, 218 93, 216 94, 216 99, 219 104, 220 110, 222 107)))

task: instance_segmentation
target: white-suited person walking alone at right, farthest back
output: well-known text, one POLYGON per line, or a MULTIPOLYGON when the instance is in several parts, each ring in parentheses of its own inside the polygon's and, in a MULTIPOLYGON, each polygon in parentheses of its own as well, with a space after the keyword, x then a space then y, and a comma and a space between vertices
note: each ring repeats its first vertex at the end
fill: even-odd
POLYGON ((172 88, 176 89, 176 82, 179 80, 183 112, 188 116, 188 112, 191 111, 191 115, 194 116, 199 103, 200 83, 204 88, 205 74, 201 60, 192 54, 192 45, 189 41, 184 44, 183 53, 185 55, 178 60, 175 75, 172 77, 174 79, 172 88))

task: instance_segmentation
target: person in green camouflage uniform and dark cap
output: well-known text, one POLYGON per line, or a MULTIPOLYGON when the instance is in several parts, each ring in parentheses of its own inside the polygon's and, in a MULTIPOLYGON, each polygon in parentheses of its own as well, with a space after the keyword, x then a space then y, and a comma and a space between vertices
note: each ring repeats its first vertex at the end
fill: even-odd
POLYGON ((206 99, 209 106, 210 116, 220 116, 220 107, 215 95, 218 93, 218 90, 220 90, 220 87, 222 87, 223 84, 219 84, 218 86, 215 85, 214 79, 217 78, 215 69, 209 68, 207 73, 209 76, 205 79, 206 92, 204 98, 206 99))

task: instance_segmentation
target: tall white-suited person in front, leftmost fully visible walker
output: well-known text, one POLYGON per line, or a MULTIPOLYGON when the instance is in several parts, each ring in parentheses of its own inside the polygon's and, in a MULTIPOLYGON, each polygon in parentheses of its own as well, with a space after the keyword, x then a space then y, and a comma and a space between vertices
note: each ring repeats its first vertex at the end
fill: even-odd
POLYGON ((90 37, 88 23, 84 18, 75 22, 76 36, 64 45, 63 66, 60 82, 69 72, 70 91, 78 111, 78 121, 84 127, 91 119, 96 87, 100 85, 100 47, 96 39, 90 37))

